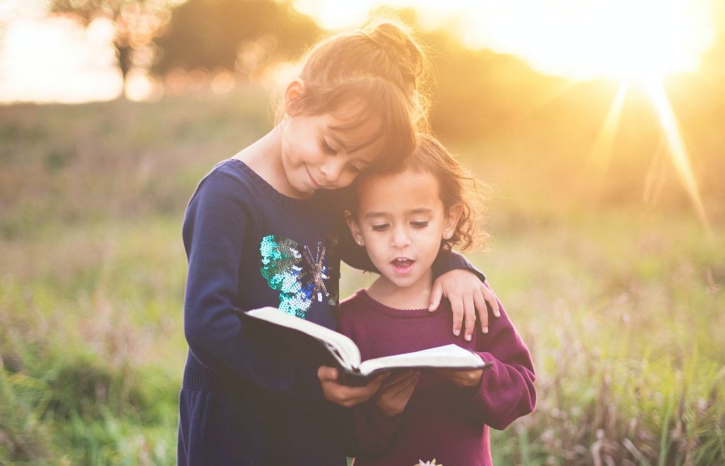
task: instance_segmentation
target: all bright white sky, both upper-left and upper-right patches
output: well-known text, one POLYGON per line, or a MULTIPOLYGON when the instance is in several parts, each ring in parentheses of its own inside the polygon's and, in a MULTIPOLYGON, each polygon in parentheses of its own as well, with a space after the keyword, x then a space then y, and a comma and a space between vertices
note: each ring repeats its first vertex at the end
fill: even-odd
MULTIPOLYGON (((325 28, 362 24, 380 6, 415 5, 472 48, 552 75, 649 78, 697 70, 713 43, 716 0, 294 0, 325 28)), ((112 99, 121 90, 108 22, 88 30, 43 18, 47 0, 0 0, 0 101, 112 99)))

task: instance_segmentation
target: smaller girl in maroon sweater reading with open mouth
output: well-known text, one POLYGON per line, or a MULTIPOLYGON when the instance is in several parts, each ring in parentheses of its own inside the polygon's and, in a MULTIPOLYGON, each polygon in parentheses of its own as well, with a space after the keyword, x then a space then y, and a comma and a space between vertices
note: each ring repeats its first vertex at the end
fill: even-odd
POLYGON ((428 311, 436 255, 468 248, 476 233, 475 180, 434 138, 421 139, 399 170, 360 178, 347 221, 381 275, 341 303, 340 330, 363 359, 454 343, 492 365, 390 375, 356 409, 355 466, 491 465, 489 426, 504 429, 536 403, 529 350, 503 307, 470 341, 450 333, 449 301, 428 311))

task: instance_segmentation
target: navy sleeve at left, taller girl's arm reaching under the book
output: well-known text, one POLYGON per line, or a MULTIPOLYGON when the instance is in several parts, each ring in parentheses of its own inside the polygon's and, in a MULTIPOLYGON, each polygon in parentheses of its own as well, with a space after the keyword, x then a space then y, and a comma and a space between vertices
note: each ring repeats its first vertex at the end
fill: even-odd
POLYGON ((243 245, 254 228, 247 188, 220 172, 202 180, 183 224, 188 256, 184 333, 200 361, 288 396, 321 399, 316 374, 286 357, 284 347, 247 331, 235 315, 243 245))

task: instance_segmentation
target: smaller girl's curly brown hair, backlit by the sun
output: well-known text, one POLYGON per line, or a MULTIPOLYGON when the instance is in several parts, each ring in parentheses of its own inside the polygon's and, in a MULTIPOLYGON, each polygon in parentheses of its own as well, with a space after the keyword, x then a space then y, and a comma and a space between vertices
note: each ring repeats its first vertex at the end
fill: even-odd
MULTIPOLYGON (((486 214, 486 200, 493 189, 477 179, 468 167, 459 162, 434 136, 418 134, 418 146, 413 154, 392 167, 389 173, 405 170, 430 173, 438 182, 438 194, 445 212, 455 205, 461 206, 461 214, 450 238, 441 240, 441 247, 450 251, 456 246, 460 251, 471 249, 474 243, 486 244, 489 234, 479 228, 486 214)), ((363 174, 360 179, 374 174, 363 174)), ((360 179, 358 182, 360 182, 360 179)), ((357 199, 355 200, 357 203, 357 199)), ((357 211, 357 206, 353 212, 357 211)))

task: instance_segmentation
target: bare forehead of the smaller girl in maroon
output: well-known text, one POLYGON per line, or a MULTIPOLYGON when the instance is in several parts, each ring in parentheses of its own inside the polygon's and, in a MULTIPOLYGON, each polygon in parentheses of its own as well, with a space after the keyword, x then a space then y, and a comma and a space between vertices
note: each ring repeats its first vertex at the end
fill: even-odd
POLYGON ((410 169, 363 177, 357 186, 357 196, 362 215, 443 207, 436 178, 429 172, 410 169))

